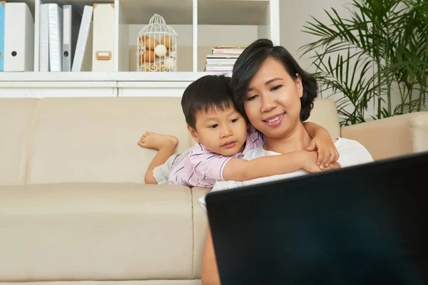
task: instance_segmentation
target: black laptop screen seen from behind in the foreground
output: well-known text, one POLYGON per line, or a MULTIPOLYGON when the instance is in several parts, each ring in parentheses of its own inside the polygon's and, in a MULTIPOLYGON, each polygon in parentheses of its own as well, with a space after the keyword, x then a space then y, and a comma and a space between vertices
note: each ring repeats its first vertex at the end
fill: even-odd
POLYGON ((428 284, 428 152, 205 202, 222 285, 428 284))

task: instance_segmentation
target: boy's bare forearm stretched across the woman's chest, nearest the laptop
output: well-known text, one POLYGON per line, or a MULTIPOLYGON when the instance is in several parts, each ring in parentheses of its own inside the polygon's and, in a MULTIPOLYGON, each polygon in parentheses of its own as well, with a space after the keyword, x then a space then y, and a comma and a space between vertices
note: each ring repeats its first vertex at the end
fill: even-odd
MULTIPOLYGON (((316 152, 300 150, 285 155, 258 157, 254 160, 244 160, 233 157, 225 165, 223 180, 245 181, 260 177, 280 175, 294 172, 303 168, 308 172, 319 172, 320 167, 315 164, 316 152)), ((339 163, 330 164, 328 169, 340 168, 339 163)))

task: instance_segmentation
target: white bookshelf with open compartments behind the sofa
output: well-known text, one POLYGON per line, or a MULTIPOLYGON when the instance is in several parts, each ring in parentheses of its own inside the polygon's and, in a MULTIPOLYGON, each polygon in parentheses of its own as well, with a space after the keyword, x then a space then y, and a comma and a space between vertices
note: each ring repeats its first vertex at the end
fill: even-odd
MULTIPOLYGON (((44 88, 53 88, 54 90, 49 90, 49 93, 55 93, 61 91, 59 90, 61 86, 71 88, 71 93, 73 88, 85 88, 83 92, 85 94, 91 93, 91 89, 98 88, 101 93, 102 90, 109 90, 108 95, 138 95, 141 93, 138 92, 138 88, 162 88, 168 84, 176 86, 178 90, 173 91, 173 94, 178 94, 188 83, 208 74, 203 72, 205 57, 214 46, 244 46, 257 38, 270 38, 275 44, 280 43, 279 0, 21 0, 21 2, 29 5, 35 21, 34 71, 0 72, 0 97, 6 90, 15 90, 19 93, 19 90, 24 88, 39 88, 38 92, 42 94, 44 88), (61 6, 71 4, 80 13, 84 5, 114 4, 115 70, 106 73, 39 72, 39 7, 43 3, 57 3, 61 6), (177 72, 136 72, 138 32, 148 24, 153 14, 163 16, 166 24, 178 33, 177 72), (93 86, 88 84, 91 81, 93 86), (111 88, 116 90, 110 92, 111 88)), ((82 93, 82 90, 80 91, 82 93)), ((98 91, 93 90, 93 94, 98 94, 98 91)), ((148 93, 143 90, 144 94, 148 93)))

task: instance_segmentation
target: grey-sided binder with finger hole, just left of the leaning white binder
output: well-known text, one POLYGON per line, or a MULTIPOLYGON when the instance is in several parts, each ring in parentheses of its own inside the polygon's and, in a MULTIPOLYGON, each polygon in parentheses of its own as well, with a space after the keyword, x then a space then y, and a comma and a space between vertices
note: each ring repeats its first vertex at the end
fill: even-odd
POLYGON ((62 71, 71 71, 81 17, 71 5, 63 6, 62 71))

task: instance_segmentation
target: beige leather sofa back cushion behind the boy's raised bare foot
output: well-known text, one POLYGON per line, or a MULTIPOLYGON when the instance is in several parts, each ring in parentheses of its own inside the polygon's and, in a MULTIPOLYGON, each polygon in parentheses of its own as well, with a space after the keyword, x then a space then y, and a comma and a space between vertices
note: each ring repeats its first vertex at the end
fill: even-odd
POLYGON ((44 98, 34 113, 27 184, 144 182, 156 154, 139 147, 148 131, 190 147, 180 98, 44 98))

